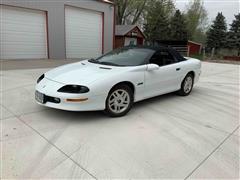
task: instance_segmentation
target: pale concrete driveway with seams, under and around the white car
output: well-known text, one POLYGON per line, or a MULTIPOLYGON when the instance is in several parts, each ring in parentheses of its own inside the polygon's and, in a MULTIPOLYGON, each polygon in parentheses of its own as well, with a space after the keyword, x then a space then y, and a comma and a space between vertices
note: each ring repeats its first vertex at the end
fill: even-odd
POLYGON ((146 100, 117 119, 37 105, 47 69, 2 71, 2 178, 238 179, 239 68, 203 63, 190 96, 146 100))

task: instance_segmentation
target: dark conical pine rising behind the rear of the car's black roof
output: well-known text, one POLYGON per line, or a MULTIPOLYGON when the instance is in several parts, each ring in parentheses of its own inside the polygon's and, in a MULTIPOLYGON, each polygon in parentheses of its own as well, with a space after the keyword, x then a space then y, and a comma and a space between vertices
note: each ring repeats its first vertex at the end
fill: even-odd
POLYGON ((171 20, 171 40, 186 41, 188 40, 187 25, 184 16, 177 10, 171 20))

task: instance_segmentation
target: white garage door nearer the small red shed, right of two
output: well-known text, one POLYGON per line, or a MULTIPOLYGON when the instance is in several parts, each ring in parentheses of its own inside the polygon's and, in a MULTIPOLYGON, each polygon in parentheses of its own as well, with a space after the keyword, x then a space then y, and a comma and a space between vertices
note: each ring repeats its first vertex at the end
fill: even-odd
POLYGON ((90 58, 102 54, 102 13, 65 8, 67 58, 90 58))

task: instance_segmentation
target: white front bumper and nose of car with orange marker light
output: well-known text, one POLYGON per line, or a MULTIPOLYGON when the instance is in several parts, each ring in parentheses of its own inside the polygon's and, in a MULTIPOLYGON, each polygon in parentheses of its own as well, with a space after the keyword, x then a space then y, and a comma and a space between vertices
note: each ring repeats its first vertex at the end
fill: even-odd
POLYGON ((105 109, 106 95, 95 95, 91 92, 71 94, 57 92, 64 84, 44 78, 36 85, 36 92, 44 95, 44 102, 38 104, 68 111, 95 111, 105 109), (82 100, 82 101, 79 101, 82 100))

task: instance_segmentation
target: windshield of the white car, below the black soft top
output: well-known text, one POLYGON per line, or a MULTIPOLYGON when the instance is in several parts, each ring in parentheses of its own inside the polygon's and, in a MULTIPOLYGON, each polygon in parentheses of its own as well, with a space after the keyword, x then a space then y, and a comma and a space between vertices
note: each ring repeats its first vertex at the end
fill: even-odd
POLYGON ((122 48, 116 49, 97 59, 89 62, 112 66, 139 66, 154 53, 154 50, 144 48, 122 48))

